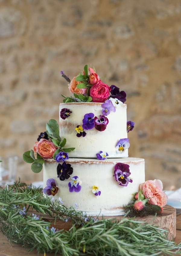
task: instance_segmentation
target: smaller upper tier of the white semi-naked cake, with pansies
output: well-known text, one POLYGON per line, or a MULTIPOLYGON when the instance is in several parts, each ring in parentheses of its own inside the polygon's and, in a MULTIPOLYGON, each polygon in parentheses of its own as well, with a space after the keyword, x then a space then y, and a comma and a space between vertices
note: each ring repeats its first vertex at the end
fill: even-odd
POLYGON ((107 153, 107 158, 128 157, 127 106, 116 104, 116 111, 105 116, 102 104, 60 103, 60 137, 67 140, 66 147, 75 147, 68 153, 69 157, 97 158, 100 151, 107 153))

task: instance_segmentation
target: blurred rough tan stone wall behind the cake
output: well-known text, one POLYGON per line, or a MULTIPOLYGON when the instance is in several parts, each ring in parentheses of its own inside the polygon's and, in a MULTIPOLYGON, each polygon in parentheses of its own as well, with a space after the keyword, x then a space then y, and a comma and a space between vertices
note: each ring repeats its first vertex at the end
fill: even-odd
POLYGON ((42 180, 22 154, 84 64, 127 93, 129 156, 146 179, 181 184, 181 1, 0 0, 0 156, 19 157, 17 176, 42 180))

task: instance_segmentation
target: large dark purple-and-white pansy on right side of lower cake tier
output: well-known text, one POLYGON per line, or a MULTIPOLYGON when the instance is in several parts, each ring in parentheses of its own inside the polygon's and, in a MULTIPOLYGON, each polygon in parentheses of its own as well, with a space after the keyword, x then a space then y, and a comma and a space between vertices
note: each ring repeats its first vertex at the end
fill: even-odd
POLYGON ((129 177, 131 173, 129 172, 129 164, 125 163, 116 163, 114 168, 114 177, 117 183, 120 186, 128 186, 129 182, 133 182, 132 179, 129 177))

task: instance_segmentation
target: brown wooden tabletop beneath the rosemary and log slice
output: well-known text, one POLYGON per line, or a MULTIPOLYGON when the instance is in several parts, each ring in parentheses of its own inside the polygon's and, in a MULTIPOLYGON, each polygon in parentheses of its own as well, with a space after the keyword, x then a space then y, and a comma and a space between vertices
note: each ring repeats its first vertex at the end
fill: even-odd
MULTIPOLYGON (((176 237, 174 239, 176 243, 181 242, 181 212, 176 214, 176 237)), ((37 251, 33 250, 28 252, 27 249, 17 244, 10 244, 5 236, 0 232, 0 256, 35 256, 37 251)), ((43 256, 43 253, 40 253, 39 256, 43 256)), ((46 253, 46 256, 53 256, 54 253, 46 253)))

